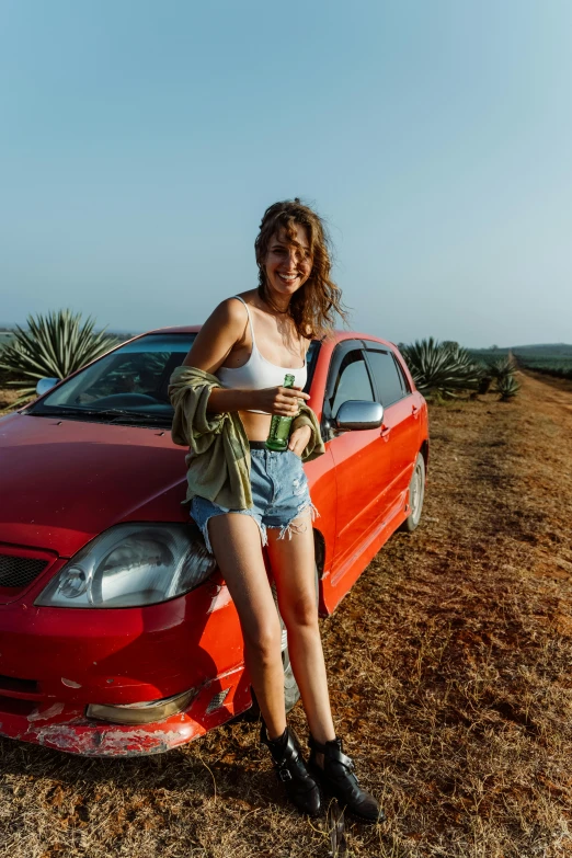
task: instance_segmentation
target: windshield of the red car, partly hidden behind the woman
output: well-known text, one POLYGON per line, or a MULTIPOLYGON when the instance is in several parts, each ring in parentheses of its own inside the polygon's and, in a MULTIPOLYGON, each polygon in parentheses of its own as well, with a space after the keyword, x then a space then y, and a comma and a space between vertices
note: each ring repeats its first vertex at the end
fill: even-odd
MULTIPOLYGON (((169 401, 169 379, 183 363, 195 336, 195 333, 146 334, 119 346, 32 405, 28 413, 170 426, 173 408, 169 401)), ((313 341, 308 350, 306 391, 319 345, 313 341)))

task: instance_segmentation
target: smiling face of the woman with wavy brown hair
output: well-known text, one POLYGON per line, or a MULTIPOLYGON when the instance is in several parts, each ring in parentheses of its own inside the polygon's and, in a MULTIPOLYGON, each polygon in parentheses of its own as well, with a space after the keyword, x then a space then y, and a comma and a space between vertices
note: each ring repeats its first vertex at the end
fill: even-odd
POLYGON ((285 298, 304 286, 312 271, 308 230, 300 224, 295 228, 295 242, 284 229, 271 238, 264 264, 268 287, 285 298))

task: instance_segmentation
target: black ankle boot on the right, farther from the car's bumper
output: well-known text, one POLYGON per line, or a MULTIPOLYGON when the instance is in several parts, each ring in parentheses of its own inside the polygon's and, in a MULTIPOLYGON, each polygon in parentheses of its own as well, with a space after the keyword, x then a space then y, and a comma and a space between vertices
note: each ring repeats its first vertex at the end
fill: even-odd
POLYGON ((376 799, 363 790, 354 775, 354 763, 342 748, 342 740, 320 745, 310 735, 308 768, 324 790, 335 796, 341 808, 366 822, 384 822, 386 815, 376 799))

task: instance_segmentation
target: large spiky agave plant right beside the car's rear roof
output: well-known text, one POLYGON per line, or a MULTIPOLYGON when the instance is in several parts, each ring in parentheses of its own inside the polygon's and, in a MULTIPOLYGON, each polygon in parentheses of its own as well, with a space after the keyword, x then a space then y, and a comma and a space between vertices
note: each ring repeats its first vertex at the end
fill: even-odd
POLYGON ((458 343, 439 343, 430 336, 400 346, 400 351, 422 393, 454 397, 459 390, 477 388, 481 381, 481 367, 458 343))

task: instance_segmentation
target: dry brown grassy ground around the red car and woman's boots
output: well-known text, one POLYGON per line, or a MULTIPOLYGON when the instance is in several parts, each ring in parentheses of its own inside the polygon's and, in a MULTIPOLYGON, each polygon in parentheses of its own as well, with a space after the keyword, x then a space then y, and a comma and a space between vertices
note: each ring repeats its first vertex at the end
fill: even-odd
MULTIPOLYGON (((572 856, 572 382, 519 380, 432 407, 422 524, 323 621, 336 728, 388 816, 346 821, 355 858, 572 856)), ((2 858, 329 854, 255 723, 144 759, 0 754, 2 858)))

